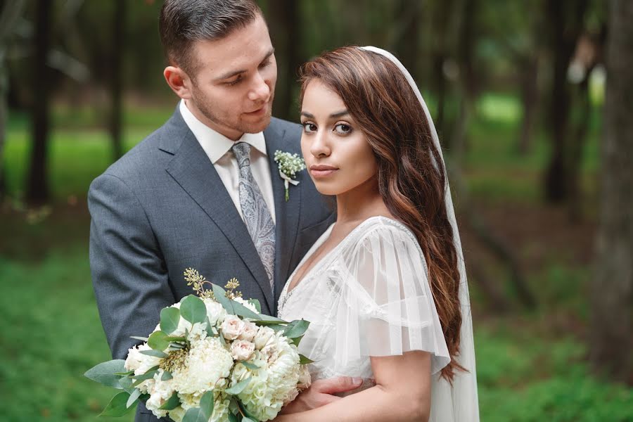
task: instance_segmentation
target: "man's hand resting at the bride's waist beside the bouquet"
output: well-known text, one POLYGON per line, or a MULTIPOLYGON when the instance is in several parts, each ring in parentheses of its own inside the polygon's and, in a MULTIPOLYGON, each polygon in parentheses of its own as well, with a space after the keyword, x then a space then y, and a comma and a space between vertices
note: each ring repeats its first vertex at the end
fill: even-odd
POLYGON ((335 393, 356 390, 362 383, 362 378, 352 378, 350 376, 316 380, 310 388, 302 391, 293 402, 283 407, 281 414, 293 414, 316 409, 316 407, 340 400, 340 397, 334 395, 335 393))

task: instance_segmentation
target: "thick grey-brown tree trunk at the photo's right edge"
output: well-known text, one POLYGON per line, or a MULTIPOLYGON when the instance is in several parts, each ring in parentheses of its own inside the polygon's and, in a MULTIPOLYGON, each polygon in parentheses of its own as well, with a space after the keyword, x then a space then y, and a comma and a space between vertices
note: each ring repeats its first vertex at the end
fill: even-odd
POLYGON ((633 384, 633 2, 609 3, 601 148, 601 215, 592 288, 590 359, 598 373, 633 384))

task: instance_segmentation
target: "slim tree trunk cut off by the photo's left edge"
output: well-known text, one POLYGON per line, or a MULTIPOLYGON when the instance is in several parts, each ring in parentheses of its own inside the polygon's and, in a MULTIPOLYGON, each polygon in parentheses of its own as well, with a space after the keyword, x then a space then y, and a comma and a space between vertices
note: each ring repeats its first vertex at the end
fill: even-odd
POLYGON ((22 14, 23 6, 24 0, 7 1, 0 11, 0 203, 6 196, 4 143, 6 142, 9 89, 6 56, 14 25, 22 14))

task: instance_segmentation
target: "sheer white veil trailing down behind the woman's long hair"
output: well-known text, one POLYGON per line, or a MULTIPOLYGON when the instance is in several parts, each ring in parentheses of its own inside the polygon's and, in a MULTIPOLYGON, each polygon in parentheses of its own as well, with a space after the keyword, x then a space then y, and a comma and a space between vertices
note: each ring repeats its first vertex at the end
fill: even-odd
MULTIPOLYGON (((437 136, 437 131, 435 130, 435 124, 433 123, 433 119, 428 111, 426 103, 422 98, 422 94, 420 94, 420 90, 416 82, 414 81, 411 74, 407 68, 400 63, 400 61, 392 55, 392 53, 385 51, 383 49, 378 49, 373 46, 365 46, 360 47, 361 49, 367 51, 373 51, 373 53, 381 54, 385 56, 389 60, 391 60, 397 67, 402 71, 404 77, 407 78, 409 85, 414 90, 418 100, 420 101, 422 108, 424 109, 424 113, 426 114, 426 120, 430 126, 430 131, 433 136, 433 145, 437 149, 440 157, 442 158, 442 162, 444 162, 444 155, 442 154, 442 147, 440 146, 440 139, 437 136)), ((456 371, 455 378, 453 381, 452 387, 448 385, 448 383, 441 378, 433 385, 433 391, 431 395, 432 400, 432 409, 431 409, 431 420, 432 421, 454 421, 454 422, 473 422, 479 421, 479 406, 478 406, 478 395, 477 395, 477 376, 475 371, 475 343, 473 340, 473 318, 471 315, 471 300, 468 295, 468 281, 466 280, 466 266, 463 261, 463 252, 461 250, 461 239, 459 237, 459 230, 457 228, 457 220, 455 219, 455 211, 453 208, 453 200, 451 197, 451 189, 448 183, 447 177, 447 186, 445 192, 445 203, 446 203, 446 212, 451 222, 451 226, 453 229, 453 241, 457 252, 457 260, 459 264, 459 276, 460 276, 460 286, 459 286, 459 302, 461 303, 461 312, 462 312, 462 322, 461 322, 461 332, 460 332, 460 353, 457 361, 461 366, 466 368, 468 372, 456 371), (445 384, 445 385, 442 385, 445 384), (439 397, 438 397, 439 396, 439 397), (442 397, 444 396, 444 397, 442 397), (440 415, 433 414, 433 408, 436 403, 436 400, 441 400, 446 403, 448 400, 452 402, 453 409, 453 417, 449 418, 448 415, 440 415)), ((438 406, 437 410, 445 409, 444 405, 438 406)), ((442 410, 442 413, 444 410, 442 410)))

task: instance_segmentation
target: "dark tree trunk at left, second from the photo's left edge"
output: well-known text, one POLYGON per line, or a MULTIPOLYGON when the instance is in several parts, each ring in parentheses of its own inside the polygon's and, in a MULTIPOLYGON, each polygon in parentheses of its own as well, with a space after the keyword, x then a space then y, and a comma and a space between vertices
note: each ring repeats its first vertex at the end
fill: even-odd
POLYGON ((27 186, 27 201, 33 205, 41 205, 49 200, 49 186, 47 184, 47 156, 49 140, 49 96, 50 96, 50 68, 46 65, 51 39, 51 11, 52 0, 37 2, 35 23, 35 49, 33 68, 33 87, 37 97, 33 101, 32 134, 33 148, 31 151, 31 167, 27 186))

